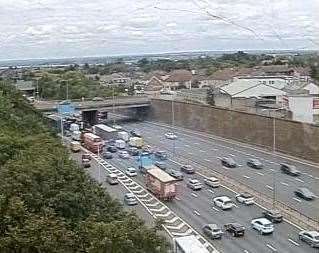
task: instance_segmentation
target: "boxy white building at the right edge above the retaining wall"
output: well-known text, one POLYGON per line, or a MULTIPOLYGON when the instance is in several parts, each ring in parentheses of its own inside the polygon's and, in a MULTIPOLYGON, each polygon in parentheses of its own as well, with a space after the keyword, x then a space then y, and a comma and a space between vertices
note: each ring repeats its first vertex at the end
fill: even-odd
POLYGON ((289 95, 287 100, 293 120, 319 124, 319 96, 289 95))

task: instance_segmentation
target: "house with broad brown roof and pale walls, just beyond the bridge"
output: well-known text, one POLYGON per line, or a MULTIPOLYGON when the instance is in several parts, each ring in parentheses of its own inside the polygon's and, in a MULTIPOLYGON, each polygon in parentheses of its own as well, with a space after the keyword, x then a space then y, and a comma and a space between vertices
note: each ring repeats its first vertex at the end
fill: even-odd
POLYGON ((180 88, 192 88, 192 73, 188 70, 174 70, 164 81, 164 89, 176 90, 180 88))

